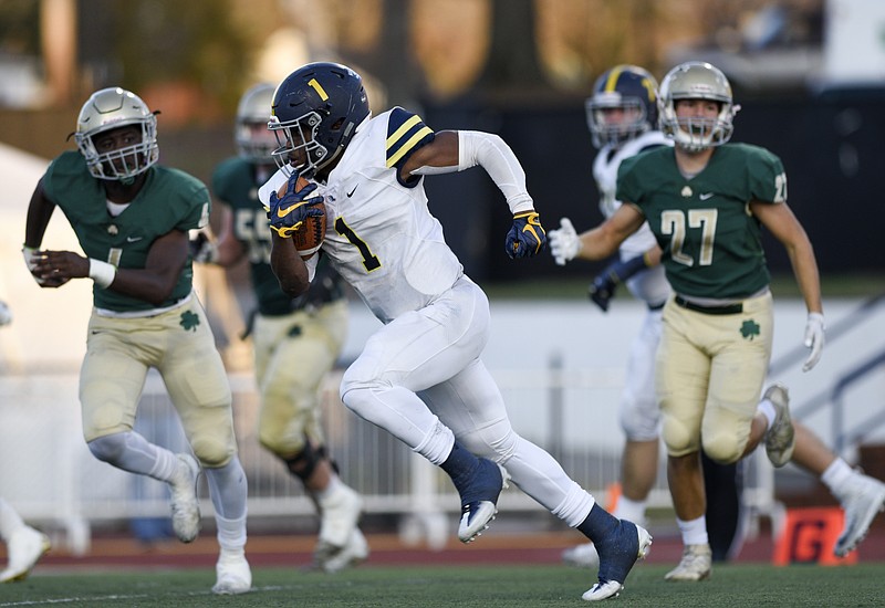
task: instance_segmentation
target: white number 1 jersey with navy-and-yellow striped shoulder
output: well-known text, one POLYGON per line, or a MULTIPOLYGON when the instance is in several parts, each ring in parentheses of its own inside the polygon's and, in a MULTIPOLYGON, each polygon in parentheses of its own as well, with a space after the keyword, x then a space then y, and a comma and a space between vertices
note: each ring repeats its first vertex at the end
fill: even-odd
MULTIPOLYGON (((322 251, 385 324, 427 306, 464 274, 439 220, 427 208, 423 178, 404 185, 397 177, 398 167, 433 137, 417 115, 400 107, 371 118, 360 126, 322 191, 322 251)), ((284 180, 278 171, 262 187, 264 205, 270 188, 284 180)))

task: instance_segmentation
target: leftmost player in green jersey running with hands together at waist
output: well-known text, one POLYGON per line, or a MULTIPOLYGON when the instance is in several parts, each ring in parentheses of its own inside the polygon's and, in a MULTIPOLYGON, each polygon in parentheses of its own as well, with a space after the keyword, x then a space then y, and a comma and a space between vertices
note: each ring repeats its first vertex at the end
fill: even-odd
POLYGON ((188 230, 209 220, 196 178, 157 165, 157 118, 135 94, 103 88, 83 105, 79 151, 58 156, 28 209, 24 261, 42 287, 92 279, 93 312, 80 374, 83 432, 108 464, 169 484, 173 528, 199 533, 196 495, 206 473, 220 553, 216 594, 251 587, 246 560, 246 474, 237 457, 231 392, 202 306, 192 291, 188 230), (55 208, 86 258, 40 250, 55 208), (133 430, 149 368, 163 377, 194 450, 174 454, 133 430))

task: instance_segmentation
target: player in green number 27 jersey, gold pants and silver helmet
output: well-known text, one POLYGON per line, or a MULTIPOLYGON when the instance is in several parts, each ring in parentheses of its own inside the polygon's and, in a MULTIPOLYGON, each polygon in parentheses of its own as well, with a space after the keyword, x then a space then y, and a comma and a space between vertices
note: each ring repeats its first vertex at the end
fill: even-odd
POLYGON ((803 370, 824 343, 820 277, 808 234, 787 205, 787 176, 772 153, 729 144, 736 107, 714 65, 687 62, 660 84, 660 127, 675 147, 626 159, 617 178, 623 205, 580 235, 563 231, 554 256, 601 260, 648 222, 674 293, 664 306, 655 361, 667 472, 685 545, 667 580, 710 576, 700 450, 737 462, 764 442, 774 467, 792 461, 826 484, 845 510, 834 552, 857 546, 885 503, 885 484, 831 452, 791 421, 781 385, 758 402, 771 358, 773 304, 761 244, 764 227, 787 249, 808 308, 803 370))

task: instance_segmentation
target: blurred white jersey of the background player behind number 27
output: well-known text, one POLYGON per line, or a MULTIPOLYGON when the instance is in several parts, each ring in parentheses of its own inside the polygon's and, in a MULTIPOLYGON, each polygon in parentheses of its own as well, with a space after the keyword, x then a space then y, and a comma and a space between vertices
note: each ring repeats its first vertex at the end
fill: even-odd
MULTIPOLYGON (((593 161, 593 178, 600 189, 600 211, 606 218, 614 216, 621 207, 621 201, 615 199, 617 189, 617 168, 621 163, 632 156, 636 156, 644 149, 655 146, 673 146, 673 140, 659 130, 649 130, 635 139, 625 141, 620 148, 611 145, 604 146, 593 161)), ((622 244, 622 258, 633 258, 645 253, 655 247, 655 237, 647 223, 631 234, 622 244)))

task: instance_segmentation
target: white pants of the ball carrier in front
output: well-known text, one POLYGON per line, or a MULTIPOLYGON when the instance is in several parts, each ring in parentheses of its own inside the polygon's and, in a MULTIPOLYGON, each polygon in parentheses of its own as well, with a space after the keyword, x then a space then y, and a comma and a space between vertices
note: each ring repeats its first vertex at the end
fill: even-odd
POLYGON ((446 460, 457 438, 476 455, 504 465, 523 492, 577 526, 593 496, 513 431, 501 392, 479 359, 488 334, 488 298, 462 276, 429 306, 369 337, 344 374, 341 398, 434 464, 446 460))

